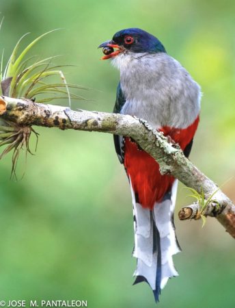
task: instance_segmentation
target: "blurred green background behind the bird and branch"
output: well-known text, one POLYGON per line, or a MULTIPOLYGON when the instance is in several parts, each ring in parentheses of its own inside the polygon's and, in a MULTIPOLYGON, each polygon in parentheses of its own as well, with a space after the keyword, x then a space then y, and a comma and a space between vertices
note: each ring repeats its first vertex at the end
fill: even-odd
MULTIPOLYGON (((202 115, 191 160, 235 200, 235 2, 204 0, 1 0, 5 58, 26 32, 69 82, 89 99, 73 108, 111 112, 119 73, 100 61, 98 44, 126 27, 156 35, 202 86, 202 115)), ((67 101, 57 101, 66 105, 67 101)), ((133 283, 133 214, 128 181, 112 136, 36 127, 36 156, 25 177, 10 180, 1 161, 0 300, 88 301, 89 307, 155 307, 147 284, 133 283)), ((23 163, 22 163, 23 164, 23 163)), ((19 170, 20 172, 23 172, 19 170)), ((179 188, 176 212, 191 202, 179 188)), ((215 219, 179 222, 180 277, 171 279, 159 308, 235 307, 235 246, 215 219)))

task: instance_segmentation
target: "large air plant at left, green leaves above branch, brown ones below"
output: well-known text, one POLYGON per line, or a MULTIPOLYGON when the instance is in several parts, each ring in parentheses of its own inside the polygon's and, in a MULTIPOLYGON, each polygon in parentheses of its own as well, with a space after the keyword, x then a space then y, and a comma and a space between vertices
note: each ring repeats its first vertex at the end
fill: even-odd
MULTIPOLYGON (((36 56, 32 56, 25 60, 27 53, 31 51, 34 45, 44 38, 44 36, 51 34, 53 31, 56 30, 46 32, 33 40, 18 55, 22 40, 28 34, 22 36, 22 38, 20 38, 16 43, 5 68, 3 68, 2 53, 0 66, 0 95, 13 98, 31 99, 33 101, 35 97, 37 97, 38 103, 46 103, 54 99, 68 99, 69 105, 71 99, 81 99, 79 95, 71 93, 70 89, 81 89, 82 87, 68 84, 64 77, 64 73, 61 70, 64 66, 56 66, 52 64, 52 61, 55 60, 58 55, 46 57, 42 60, 36 60, 36 56), (58 76, 61 81, 56 83, 50 82, 50 77, 52 76, 58 76), (40 97, 41 94, 43 94, 43 97, 40 97)), ((16 177, 16 164, 20 150, 24 149, 25 155, 31 153, 29 149, 31 132, 36 135, 38 141, 38 133, 36 133, 31 126, 25 127, 17 125, 16 123, 3 120, 3 118, 0 117, 0 146, 5 146, 5 149, 0 154, 0 159, 10 151, 13 151, 12 175, 14 177, 16 177)))

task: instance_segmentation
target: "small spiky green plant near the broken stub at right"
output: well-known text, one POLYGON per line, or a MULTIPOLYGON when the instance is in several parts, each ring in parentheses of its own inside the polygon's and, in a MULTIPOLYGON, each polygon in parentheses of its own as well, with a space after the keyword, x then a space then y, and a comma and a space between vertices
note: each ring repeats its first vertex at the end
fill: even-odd
POLYGON ((189 196, 195 198, 197 200, 197 203, 199 205, 199 211, 197 212, 197 218, 196 219, 199 219, 199 218, 202 218, 202 227, 204 227, 204 225, 206 224, 206 211, 208 209, 208 206, 211 205, 212 203, 219 207, 219 203, 216 199, 213 199, 213 196, 215 196, 215 194, 218 192, 218 190, 220 188, 218 188, 217 190, 215 190, 215 192, 213 192, 209 198, 205 198, 205 193, 204 191, 202 190, 201 191, 201 194, 199 194, 197 192, 197 190, 194 190, 193 188, 190 188, 190 187, 187 187, 192 194, 189 194, 189 196))

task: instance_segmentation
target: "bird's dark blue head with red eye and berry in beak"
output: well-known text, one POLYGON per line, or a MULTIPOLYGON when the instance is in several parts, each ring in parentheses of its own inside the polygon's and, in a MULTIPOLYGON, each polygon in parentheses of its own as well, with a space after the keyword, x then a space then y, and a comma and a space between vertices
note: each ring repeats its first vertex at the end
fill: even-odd
POLYGON ((105 55, 102 60, 110 59, 122 54, 130 53, 165 53, 165 48, 161 42, 138 28, 129 28, 118 31, 112 40, 107 40, 100 44, 98 48, 104 48, 105 55))

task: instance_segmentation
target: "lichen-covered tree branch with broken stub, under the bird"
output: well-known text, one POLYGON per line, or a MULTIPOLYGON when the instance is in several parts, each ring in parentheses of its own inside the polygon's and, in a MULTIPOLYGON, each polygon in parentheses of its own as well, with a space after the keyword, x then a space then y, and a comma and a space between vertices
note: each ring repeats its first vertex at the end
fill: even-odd
MULTIPOLYGON (((203 191, 206 199, 210 199, 213 194, 212 201, 216 201, 217 209, 215 211, 215 206, 208 203, 207 208, 204 209, 204 215, 216 216, 223 227, 235 238, 235 205, 230 198, 184 156, 178 144, 150 127, 145 120, 122 114, 73 111, 68 107, 44 105, 10 97, 1 97, 1 114, 5 120, 20 126, 38 125, 59 129, 100 131, 133 138, 141 149, 156 159, 162 175, 173 175, 199 194, 203 191)), ((193 206, 193 209, 184 207, 179 213, 180 219, 199 218, 202 209, 198 203, 193 206)))

